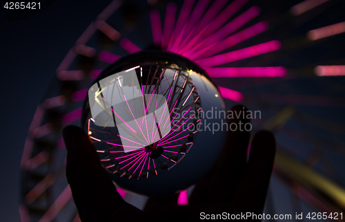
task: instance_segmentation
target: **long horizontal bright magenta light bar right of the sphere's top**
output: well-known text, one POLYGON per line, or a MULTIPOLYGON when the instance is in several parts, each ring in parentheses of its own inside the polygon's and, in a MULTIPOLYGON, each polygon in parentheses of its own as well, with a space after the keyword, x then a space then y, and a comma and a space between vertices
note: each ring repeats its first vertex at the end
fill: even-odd
POLYGON ((276 67, 226 67, 205 68, 210 77, 283 77, 286 68, 276 67))

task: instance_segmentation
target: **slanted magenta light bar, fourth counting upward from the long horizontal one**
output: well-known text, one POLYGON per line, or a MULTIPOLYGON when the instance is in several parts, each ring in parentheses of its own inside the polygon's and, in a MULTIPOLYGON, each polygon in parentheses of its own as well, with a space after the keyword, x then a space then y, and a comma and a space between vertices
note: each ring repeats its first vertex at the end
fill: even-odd
MULTIPOLYGON (((190 52, 187 53, 187 55, 189 55, 190 53, 193 53, 198 48, 205 48, 207 46, 217 43, 217 41, 220 41, 221 39, 228 37, 228 35, 235 32, 235 30, 237 30, 238 28, 241 28, 242 26, 244 26, 244 24, 248 23, 248 21, 250 21, 257 15, 259 15, 259 13, 260 13, 260 9, 257 6, 253 6, 249 8, 248 10, 246 10, 246 12, 242 13, 241 15, 233 19, 233 21, 230 21, 224 27, 217 30, 216 33, 214 33, 213 35, 210 35, 207 39, 203 39, 203 41, 199 42, 199 44, 193 47, 190 50, 190 52)), ((186 50, 184 51, 186 52, 186 50)))

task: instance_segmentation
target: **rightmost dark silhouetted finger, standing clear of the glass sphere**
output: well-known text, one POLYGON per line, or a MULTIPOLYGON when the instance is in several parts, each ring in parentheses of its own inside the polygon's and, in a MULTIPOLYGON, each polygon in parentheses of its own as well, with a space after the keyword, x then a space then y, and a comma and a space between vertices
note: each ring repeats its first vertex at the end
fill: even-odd
POLYGON ((253 138, 248 167, 234 198, 244 212, 263 212, 274 159, 275 136, 270 131, 259 131, 253 138))

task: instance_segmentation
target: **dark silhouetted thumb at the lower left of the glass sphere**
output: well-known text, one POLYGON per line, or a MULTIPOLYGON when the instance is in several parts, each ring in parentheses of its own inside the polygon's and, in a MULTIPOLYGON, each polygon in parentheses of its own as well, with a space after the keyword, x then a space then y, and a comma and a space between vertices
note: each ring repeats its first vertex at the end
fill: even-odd
POLYGON ((66 177, 81 221, 107 221, 115 212, 128 210, 86 133, 68 126, 62 134, 67 149, 66 177))

